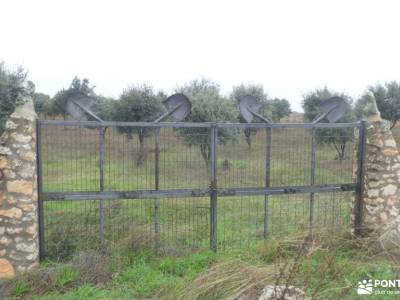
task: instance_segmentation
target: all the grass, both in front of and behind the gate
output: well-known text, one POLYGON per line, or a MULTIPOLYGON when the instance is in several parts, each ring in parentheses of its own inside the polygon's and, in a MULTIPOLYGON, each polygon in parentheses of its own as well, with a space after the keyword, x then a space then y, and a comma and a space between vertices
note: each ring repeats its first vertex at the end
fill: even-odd
MULTIPOLYGON (((62 126, 43 131, 45 191, 98 190, 97 132, 64 131, 62 126)), ((251 151, 242 139, 219 146, 219 186, 264 185, 264 134, 254 137, 251 151)), ((141 165, 134 161, 137 140, 128 141, 108 130, 107 141, 106 189, 152 188, 152 139, 146 140, 147 157, 141 165)), ((162 188, 208 186, 197 147, 180 143, 173 131, 162 134, 161 144, 162 188)), ((276 132, 272 185, 308 184, 309 145, 309 137, 299 130, 276 132)), ((318 184, 352 181, 351 148, 345 161, 339 162, 331 147, 319 145, 318 184)), ((309 232, 309 195, 270 196, 267 201, 263 196, 220 197, 221 251, 217 253, 207 250, 208 197, 159 201, 160 253, 152 251, 154 199, 105 201, 107 243, 99 254, 90 252, 100 245, 98 201, 45 202, 46 250, 51 260, 43 262, 36 273, 0 286, 3 295, 17 299, 208 300, 255 296, 264 284, 292 284, 305 290, 309 298, 355 299, 359 280, 398 278, 399 264, 391 256, 372 252, 363 242, 338 234, 348 228, 350 199, 351 193, 315 195, 314 227, 336 232, 316 235, 307 244, 308 251, 303 251, 305 238, 298 234, 309 232), (269 238, 264 241, 265 203, 269 238), (243 277, 244 270, 253 274, 251 280, 243 277), (236 294, 229 293, 232 290, 236 294)))

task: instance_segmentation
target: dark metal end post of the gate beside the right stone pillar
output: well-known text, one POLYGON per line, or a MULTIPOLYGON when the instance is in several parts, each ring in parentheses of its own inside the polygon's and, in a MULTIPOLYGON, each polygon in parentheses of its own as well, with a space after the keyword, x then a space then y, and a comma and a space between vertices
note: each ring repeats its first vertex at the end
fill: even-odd
POLYGON ((367 141, 367 122, 361 121, 358 131, 358 153, 357 153, 357 183, 354 203, 354 233, 361 234, 363 199, 364 199, 364 174, 365 174, 365 154, 367 141))

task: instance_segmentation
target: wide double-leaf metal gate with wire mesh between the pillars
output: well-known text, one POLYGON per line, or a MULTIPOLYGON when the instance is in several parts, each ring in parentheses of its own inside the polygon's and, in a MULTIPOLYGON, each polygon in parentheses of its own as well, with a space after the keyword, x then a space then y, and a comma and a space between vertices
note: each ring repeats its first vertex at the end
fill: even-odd
POLYGON ((223 249, 348 226, 360 128, 38 121, 41 255, 223 249))

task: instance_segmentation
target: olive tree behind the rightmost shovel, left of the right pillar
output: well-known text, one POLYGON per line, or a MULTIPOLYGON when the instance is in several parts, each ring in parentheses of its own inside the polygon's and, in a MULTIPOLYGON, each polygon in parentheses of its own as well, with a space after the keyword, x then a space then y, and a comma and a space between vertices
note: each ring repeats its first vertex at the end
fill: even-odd
MULTIPOLYGON (((334 91, 328 90, 326 87, 323 89, 316 89, 303 96, 303 109, 304 119, 306 122, 312 122, 322 112, 320 111, 320 104, 326 99, 339 96, 344 98, 348 103, 352 103, 352 99, 345 95, 334 91)), ((355 121, 354 111, 350 110, 344 114, 340 119, 340 122, 353 122, 355 121)), ((344 159, 346 145, 353 138, 353 132, 351 128, 319 128, 316 130, 317 142, 326 143, 335 148, 337 152, 337 159, 340 161, 344 159)))

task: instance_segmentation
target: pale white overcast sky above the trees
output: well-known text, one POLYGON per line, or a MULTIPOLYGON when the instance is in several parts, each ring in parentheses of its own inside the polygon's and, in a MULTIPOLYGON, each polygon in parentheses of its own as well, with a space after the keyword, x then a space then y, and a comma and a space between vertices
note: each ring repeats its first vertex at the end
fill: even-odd
POLYGON ((352 97, 400 80, 400 1, 0 1, 0 61, 54 95, 72 78, 118 97, 195 78, 261 84, 301 111, 327 86, 352 97))

